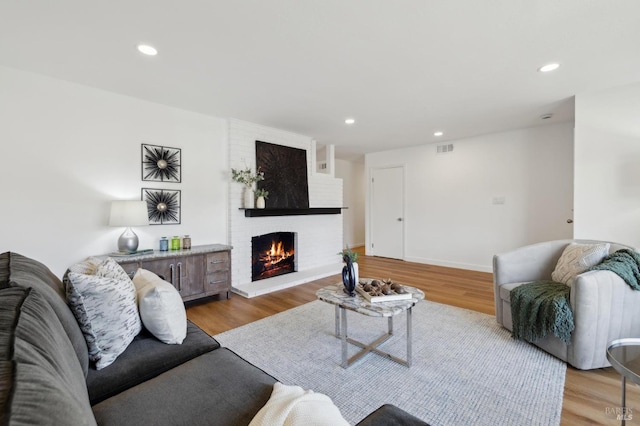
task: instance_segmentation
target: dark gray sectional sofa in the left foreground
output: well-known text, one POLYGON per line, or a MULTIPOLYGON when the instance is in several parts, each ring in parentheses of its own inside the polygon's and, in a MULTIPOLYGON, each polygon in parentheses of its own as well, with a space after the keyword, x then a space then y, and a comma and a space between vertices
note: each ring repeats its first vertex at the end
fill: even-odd
MULTIPOLYGON (((188 324, 181 345, 143 330, 101 370, 43 264, 0 254, 0 423, 24 425, 246 425, 276 378, 188 324)), ((425 425, 391 405, 362 425, 425 425)))

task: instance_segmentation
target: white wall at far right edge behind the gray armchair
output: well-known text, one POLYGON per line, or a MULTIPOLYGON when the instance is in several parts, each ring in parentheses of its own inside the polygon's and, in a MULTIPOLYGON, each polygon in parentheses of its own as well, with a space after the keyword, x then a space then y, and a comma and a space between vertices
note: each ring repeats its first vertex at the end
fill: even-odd
POLYGON ((640 83, 576 96, 575 236, 640 247, 640 83))

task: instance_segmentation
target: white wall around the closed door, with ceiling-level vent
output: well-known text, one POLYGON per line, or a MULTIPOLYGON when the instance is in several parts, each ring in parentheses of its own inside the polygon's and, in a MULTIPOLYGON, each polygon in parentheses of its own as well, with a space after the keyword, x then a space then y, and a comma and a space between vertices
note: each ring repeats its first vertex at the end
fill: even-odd
POLYGON ((453 152, 424 145, 365 157, 367 175, 405 167, 405 260, 491 271, 495 253, 572 236, 571 123, 446 143, 453 152))

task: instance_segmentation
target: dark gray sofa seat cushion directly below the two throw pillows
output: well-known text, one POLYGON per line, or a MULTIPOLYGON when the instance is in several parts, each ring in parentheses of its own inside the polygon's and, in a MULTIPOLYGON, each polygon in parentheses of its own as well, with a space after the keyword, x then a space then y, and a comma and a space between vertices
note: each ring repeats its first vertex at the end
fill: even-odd
POLYGON ((167 345, 143 330, 110 366, 89 369, 87 387, 91 404, 156 377, 220 344, 195 324, 187 323, 187 337, 181 345, 167 345))

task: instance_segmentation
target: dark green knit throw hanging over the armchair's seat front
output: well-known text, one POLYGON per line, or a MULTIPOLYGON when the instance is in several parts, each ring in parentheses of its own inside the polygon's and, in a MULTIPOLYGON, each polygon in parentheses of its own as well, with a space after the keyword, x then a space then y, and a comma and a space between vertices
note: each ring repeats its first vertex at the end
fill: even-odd
POLYGON ((533 281, 511 290, 511 337, 537 342, 553 333, 571 344, 574 329, 571 287, 555 281, 533 281))

